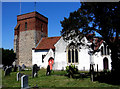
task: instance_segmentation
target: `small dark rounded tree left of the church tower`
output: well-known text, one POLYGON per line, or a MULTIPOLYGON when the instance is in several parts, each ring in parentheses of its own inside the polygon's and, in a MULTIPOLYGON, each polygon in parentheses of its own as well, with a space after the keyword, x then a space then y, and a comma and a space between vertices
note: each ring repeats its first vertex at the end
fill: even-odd
POLYGON ((4 66, 10 66, 16 59, 16 54, 13 49, 3 49, 2 48, 2 64, 4 66))

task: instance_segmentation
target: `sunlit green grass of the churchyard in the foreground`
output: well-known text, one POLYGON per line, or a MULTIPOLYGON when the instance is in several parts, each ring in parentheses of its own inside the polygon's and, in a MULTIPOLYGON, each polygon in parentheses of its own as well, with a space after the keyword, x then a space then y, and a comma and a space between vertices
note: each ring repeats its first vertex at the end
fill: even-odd
MULTIPOLYGON (((34 87, 120 87, 99 83, 98 81, 91 82, 90 78, 72 79, 64 76, 65 71, 52 71, 51 76, 46 76, 46 70, 41 69, 38 72, 37 78, 32 78, 32 71, 21 71, 29 76, 29 86, 34 87)), ((2 72, 2 86, 3 87, 20 87, 21 82, 16 81, 17 72, 11 72, 10 76, 3 76, 2 72)))

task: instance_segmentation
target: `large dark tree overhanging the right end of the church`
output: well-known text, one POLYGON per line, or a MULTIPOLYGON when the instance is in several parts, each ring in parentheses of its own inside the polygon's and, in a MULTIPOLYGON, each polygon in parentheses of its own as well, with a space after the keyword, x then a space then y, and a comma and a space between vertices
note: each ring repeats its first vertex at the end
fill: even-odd
MULTIPOLYGON (((120 78, 120 2, 115 3, 81 3, 81 7, 70 13, 69 18, 61 21, 63 27, 61 35, 65 40, 72 30, 75 35, 96 32, 109 45, 112 58, 112 73, 120 78)), ((81 35, 83 34, 83 35, 81 35)), ((82 38, 82 37, 81 37, 82 38)))

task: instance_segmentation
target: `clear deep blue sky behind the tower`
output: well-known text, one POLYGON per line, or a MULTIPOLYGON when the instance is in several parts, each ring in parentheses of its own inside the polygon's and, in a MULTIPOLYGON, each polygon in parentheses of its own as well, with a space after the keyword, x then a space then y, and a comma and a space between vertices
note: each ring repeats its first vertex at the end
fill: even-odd
MULTIPOLYGON (((21 2, 21 14, 35 11, 34 2, 21 2)), ((48 18, 48 37, 60 36, 60 21, 80 7, 80 2, 37 2, 36 11, 48 18)), ((14 48, 14 28, 20 2, 2 2, 2 48, 14 48)))

